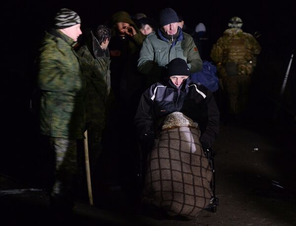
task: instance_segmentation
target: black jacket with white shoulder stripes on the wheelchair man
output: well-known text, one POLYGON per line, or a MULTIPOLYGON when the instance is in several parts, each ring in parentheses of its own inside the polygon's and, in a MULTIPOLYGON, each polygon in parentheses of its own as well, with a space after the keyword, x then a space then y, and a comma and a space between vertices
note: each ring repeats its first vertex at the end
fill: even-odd
POLYGON ((139 102, 135 125, 140 138, 154 134, 155 122, 179 111, 196 122, 203 148, 210 148, 219 132, 220 112, 212 93, 203 85, 186 79, 179 89, 169 79, 154 83, 139 102))

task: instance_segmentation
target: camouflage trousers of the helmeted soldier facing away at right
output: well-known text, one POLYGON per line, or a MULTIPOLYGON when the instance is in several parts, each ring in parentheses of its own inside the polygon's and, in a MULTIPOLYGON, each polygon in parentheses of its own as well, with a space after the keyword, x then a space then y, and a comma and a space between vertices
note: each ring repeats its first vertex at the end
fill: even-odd
POLYGON ((227 92, 228 111, 230 114, 239 114, 247 107, 250 75, 223 76, 223 87, 227 92))

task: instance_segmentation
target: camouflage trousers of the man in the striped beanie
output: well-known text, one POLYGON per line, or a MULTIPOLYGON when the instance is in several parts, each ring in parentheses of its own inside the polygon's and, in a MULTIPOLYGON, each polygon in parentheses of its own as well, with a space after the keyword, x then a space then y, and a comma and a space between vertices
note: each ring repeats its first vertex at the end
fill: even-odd
POLYGON ((50 137, 50 148, 55 154, 54 183, 51 196, 71 196, 74 177, 77 173, 75 139, 50 137))

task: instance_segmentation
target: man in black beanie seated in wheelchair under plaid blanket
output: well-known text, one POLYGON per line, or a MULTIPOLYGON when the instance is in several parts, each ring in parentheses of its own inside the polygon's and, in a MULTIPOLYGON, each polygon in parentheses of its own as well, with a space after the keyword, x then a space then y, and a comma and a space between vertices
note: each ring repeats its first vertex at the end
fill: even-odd
POLYGON ((146 159, 143 203, 193 219, 213 202, 205 153, 218 135, 220 112, 212 93, 189 75, 183 59, 172 60, 167 76, 142 95, 135 125, 146 159))

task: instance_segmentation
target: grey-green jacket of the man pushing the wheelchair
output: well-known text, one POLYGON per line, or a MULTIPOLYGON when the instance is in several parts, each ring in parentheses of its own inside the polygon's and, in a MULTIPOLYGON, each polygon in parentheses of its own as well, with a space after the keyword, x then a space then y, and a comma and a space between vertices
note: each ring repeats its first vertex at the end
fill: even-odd
POLYGON ((200 71, 202 60, 192 37, 182 32, 173 43, 161 36, 161 32, 151 32, 144 39, 138 60, 138 70, 151 77, 151 82, 159 81, 162 68, 175 58, 184 59, 191 73, 200 71))

